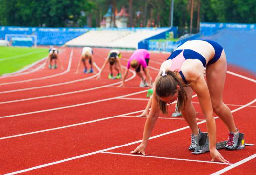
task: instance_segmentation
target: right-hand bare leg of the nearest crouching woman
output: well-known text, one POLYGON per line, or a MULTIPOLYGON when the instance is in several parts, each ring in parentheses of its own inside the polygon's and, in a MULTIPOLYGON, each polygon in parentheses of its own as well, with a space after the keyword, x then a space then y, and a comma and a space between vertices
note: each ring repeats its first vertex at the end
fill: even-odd
POLYGON ((224 50, 221 57, 206 68, 206 80, 209 88, 213 111, 222 119, 229 132, 237 133, 233 115, 226 104, 223 103, 223 89, 226 78, 227 62, 224 50))

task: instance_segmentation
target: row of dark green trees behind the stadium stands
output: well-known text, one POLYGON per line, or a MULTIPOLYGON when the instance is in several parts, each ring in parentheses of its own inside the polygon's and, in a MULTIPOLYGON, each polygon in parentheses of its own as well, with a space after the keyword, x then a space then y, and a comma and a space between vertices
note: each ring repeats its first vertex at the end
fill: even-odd
MULTIPOLYGON (((173 0, 173 26, 203 22, 256 23, 256 0, 173 0)), ((128 26, 166 27, 172 0, 0 0, 0 25, 99 27, 108 8, 125 7, 128 26)), ((114 26, 113 26, 114 27, 114 26)))

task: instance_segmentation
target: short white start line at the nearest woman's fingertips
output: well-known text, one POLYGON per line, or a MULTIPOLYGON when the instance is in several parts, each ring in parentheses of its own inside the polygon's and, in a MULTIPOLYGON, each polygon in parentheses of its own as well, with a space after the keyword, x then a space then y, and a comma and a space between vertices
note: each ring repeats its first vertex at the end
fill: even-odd
POLYGON ((126 155, 126 156, 135 156, 135 157, 145 157, 145 158, 157 158, 157 159, 169 159, 169 160, 181 160, 181 161, 189 161, 189 162, 203 162, 203 163, 212 163, 212 164, 224 164, 224 165, 232 165, 230 163, 222 163, 222 162, 210 162, 203 160, 192 160, 192 159, 178 159, 171 157, 159 157, 159 156, 149 156, 149 155, 138 155, 138 154, 124 154, 124 153, 116 153, 116 152, 100 152, 104 154, 114 154, 114 155, 126 155))

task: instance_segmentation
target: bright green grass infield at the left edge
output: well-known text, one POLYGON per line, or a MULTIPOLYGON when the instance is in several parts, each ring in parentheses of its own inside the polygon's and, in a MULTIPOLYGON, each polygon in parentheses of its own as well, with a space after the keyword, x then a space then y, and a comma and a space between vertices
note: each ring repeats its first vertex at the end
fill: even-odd
POLYGON ((0 47, 0 75, 18 71, 47 55, 47 48, 0 47))

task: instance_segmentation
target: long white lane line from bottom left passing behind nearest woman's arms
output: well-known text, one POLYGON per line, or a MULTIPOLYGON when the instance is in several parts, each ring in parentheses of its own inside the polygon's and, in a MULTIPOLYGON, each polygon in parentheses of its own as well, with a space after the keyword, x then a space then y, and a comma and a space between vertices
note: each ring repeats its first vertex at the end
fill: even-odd
MULTIPOLYGON (((231 112, 233 113, 235 111, 243 109, 243 108, 247 107, 248 105, 251 105, 255 101, 256 101, 256 99, 251 101, 251 102, 249 102, 249 103, 247 103, 247 104, 245 104, 243 107, 237 108, 237 109, 235 109, 235 110, 233 110, 231 112)), ((219 117, 214 117, 214 118, 216 119, 216 118, 219 118, 219 117)), ((198 122, 197 125, 200 125, 200 124, 205 123, 205 122, 206 121, 198 122)), ((168 135, 168 134, 171 134, 171 133, 179 132, 179 131, 182 131, 182 130, 185 130, 185 129, 188 129, 188 128, 189 128, 189 126, 185 126, 183 128, 179 128, 179 129, 172 130, 172 131, 169 131, 169 132, 166 132, 166 133, 162 133, 162 134, 159 134, 159 135, 156 135, 156 136, 152 136, 152 137, 149 138, 149 140, 155 139, 155 138, 158 138, 158 137, 161 137, 161 136, 164 136, 164 135, 168 135)), ((97 153, 106 152, 106 151, 117 149, 117 148, 120 148, 120 147, 134 145, 134 144, 137 144, 137 143, 140 143, 140 142, 142 142, 142 140, 130 142, 128 144, 123 144, 123 145, 120 145, 120 146, 114 146, 114 147, 98 150, 98 151, 95 151, 95 152, 91 152, 91 153, 87 153, 87 154, 83 154, 83 155, 79 155, 79 156, 75 156, 75 157, 70 157, 70 158, 67 158, 67 159, 63 159, 63 160, 59 160, 59 161, 55 161, 55 162, 51 162, 51 163, 47 163, 47 164, 38 165, 38 166, 35 166, 35 167, 31 167, 31 168, 27 168, 27 169, 11 172, 11 173, 8 173, 8 174, 5 174, 5 175, 14 175, 14 174, 18 174, 18 173, 28 172, 28 171, 31 171, 31 170, 35 170, 35 169, 39 169, 39 168, 43 168, 43 167, 47 167, 47 166, 51 166, 51 165, 67 162, 67 161, 70 161, 70 160, 74 160, 74 159, 78 159, 78 158, 94 155, 94 154, 97 154, 97 153)))

